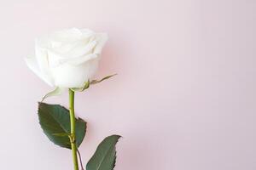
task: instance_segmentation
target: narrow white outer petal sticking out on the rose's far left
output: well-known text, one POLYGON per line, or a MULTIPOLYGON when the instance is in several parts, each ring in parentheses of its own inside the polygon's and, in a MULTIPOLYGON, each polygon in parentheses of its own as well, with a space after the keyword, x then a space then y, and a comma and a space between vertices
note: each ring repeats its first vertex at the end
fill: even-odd
POLYGON ((39 65, 37 62, 37 59, 34 56, 29 56, 25 58, 26 65, 39 77, 41 78, 44 82, 49 84, 49 86, 54 86, 53 81, 51 80, 50 77, 47 77, 45 74, 43 74, 40 69, 39 65))

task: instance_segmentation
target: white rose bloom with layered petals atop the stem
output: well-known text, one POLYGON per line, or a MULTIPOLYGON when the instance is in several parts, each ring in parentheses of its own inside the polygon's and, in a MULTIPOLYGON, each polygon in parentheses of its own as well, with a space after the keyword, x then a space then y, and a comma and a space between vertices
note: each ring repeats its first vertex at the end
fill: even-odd
POLYGON ((26 64, 50 86, 82 88, 94 76, 107 39, 107 34, 87 29, 55 31, 36 40, 35 54, 26 64))

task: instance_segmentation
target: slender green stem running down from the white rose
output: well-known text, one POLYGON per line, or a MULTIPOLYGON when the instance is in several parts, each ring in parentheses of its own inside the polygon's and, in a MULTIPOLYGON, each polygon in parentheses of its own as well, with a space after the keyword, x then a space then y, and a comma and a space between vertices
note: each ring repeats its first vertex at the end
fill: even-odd
POLYGON ((74 114, 74 92, 69 89, 69 113, 70 113, 70 126, 71 126, 71 149, 73 155, 73 169, 79 170, 79 161, 77 156, 77 146, 76 146, 76 120, 74 114))

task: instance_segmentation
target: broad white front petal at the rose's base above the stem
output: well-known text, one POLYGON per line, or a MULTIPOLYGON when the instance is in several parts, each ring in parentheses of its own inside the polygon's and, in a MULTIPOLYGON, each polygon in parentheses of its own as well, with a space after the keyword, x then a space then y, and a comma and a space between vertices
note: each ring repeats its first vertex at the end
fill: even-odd
POLYGON ((81 65, 59 65, 52 69, 55 86, 60 88, 82 88, 94 76, 98 59, 90 59, 81 65))

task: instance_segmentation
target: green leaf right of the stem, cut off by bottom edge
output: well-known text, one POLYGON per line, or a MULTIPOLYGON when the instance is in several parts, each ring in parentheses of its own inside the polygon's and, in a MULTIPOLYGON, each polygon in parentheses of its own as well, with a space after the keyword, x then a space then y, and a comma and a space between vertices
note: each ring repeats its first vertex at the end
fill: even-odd
POLYGON ((119 135, 112 135, 104 139, 88 161, 86 170, 113 170, 116 159, 115 144, 119 138, 119 135))

